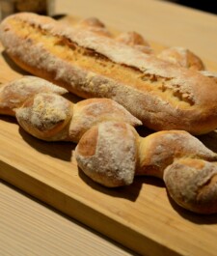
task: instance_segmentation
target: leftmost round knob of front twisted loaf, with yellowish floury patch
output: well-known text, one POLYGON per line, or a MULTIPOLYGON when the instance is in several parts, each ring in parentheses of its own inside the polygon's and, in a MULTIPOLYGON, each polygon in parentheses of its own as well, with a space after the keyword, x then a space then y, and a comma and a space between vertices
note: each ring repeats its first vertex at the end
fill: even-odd
POLYGON ((55 94, 41 93, 26 100, 15 109, 19 125, 42 140, 69 140, 68 123, 73 113, 73 104, 55 94))

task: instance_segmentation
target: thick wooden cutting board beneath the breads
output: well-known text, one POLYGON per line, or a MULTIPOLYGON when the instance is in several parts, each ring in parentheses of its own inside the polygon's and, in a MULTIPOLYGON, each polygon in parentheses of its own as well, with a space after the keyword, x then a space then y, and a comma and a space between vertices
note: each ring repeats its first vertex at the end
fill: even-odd
MULTIPOLYGON (((156 50, 164 47, 151 45, 156 50)), ((1 45, 0 50, 0 83, 25 74, 1 45)), ((217 71, 217 63, 204 61, 207 69, 217 71)), ((215 131, 201 139, 217 152, 215 131)), ((179 208, 163 182, 151 177, 115 189, 96 185, 78 169, 75 146, 38 140, 13 117, 1 116, 0 178, 140 254, 216 255, 217 214, 203 216, 179 208)))

